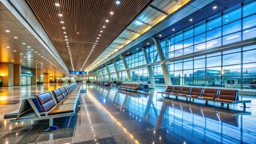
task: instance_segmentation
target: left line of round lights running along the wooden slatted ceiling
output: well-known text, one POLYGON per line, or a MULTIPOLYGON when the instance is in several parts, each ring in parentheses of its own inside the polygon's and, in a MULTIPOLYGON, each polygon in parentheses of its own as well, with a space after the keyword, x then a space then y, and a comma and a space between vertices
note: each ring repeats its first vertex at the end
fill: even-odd
MULTIPOLYGON (((59 2, 55 2, 55 6, 56 6, 57 9, 58 9, 58 16, 59 16, 60 19, 61 19, 60 23, 61 23, 61 24, 64 24, 64 20, 63 20, 63 18, 62 18, 62 17, 63 17, 63 14, 62 14, 61 9, 60 9, 60 6, 61 6, 61 5, 59 4, 59 2)), ((62 26, 62 29, 64 30, 64 29, 66 29, 66 27, 65 27, 65 26, 62 26)), ((73 71, 75 71, 74 65, 73 65, 73 61, 72 61, 72 53, 71 53, 70 46, 69 46, 69 40, 67 39, 67 32, 64 31, 63 34, 64 34, 64 39, 65 39, 66 44, 67 44, 67 50, 69 51, 70 62, 71 62, 73 71)), ((76 34, 79 34, 79 32, 76 32, 76 34)))

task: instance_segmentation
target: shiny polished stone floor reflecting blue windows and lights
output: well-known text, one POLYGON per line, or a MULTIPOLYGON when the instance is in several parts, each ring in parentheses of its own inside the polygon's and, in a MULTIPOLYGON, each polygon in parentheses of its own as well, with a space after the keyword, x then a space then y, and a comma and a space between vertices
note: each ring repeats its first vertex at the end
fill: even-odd
POLYGON ((256 143, 256 97, 242 104, 206 106, 203 101, 162 98, 157 91, 127 92, 81 84, 77 115, 58 118, 56 131, 43 132, 49 122, 11 123, 4 114, 16 110, 23 98, 64 84, 0 88, 0 143, 256 143), (85 92, 85 93, 84 93, 85 92))

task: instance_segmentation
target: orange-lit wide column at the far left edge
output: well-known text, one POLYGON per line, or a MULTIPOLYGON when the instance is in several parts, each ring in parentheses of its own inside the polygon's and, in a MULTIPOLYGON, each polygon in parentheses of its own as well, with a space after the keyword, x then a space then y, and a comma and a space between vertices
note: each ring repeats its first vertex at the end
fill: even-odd
POLYGON ((0 63, 2 86, 13 86, 13 64, 0 63))

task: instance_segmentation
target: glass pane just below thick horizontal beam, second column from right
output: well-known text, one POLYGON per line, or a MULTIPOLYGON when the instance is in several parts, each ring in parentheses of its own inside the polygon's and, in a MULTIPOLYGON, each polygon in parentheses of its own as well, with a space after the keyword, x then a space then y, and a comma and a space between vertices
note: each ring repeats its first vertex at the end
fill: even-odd
POLYGON ((233 53, 230 55, 223 55, 223 65, 232 65, 241 63, 241 53, 233 53))

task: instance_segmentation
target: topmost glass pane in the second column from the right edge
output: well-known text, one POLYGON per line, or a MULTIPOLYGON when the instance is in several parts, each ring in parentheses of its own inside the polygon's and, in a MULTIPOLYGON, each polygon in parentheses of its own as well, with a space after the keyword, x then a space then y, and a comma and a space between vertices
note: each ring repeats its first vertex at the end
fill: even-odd
POLYGON ((234 22, 235 20, 241 19, 241 8, 231 11, 223 16, 223 25, 234 22))

